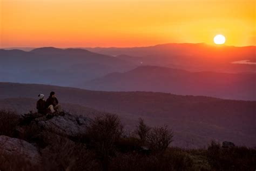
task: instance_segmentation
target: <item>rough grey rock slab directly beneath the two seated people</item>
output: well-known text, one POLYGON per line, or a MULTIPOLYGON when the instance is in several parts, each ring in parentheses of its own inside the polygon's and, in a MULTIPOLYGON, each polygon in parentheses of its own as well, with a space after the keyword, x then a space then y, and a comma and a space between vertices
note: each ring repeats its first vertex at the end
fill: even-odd
POLYGON ((66 113, 64 116, 54 116, 51 119, 46 119, 45 117, 37 118, 36 121, 38 126, 44 131, 64 137, 77 137, 85 133, 86 126, 90 123, 91 119, 66 113))

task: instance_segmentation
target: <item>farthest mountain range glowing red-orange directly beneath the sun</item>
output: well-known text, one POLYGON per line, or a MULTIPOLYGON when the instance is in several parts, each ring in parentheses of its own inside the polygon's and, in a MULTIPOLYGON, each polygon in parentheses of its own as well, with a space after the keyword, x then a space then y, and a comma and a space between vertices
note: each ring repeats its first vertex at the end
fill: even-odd
MULTIPOLYGON (((119 56, 139 56, 128 61, 138 65, 163 66, 190 71, 256 72, 256 65, 234 64, 234 61, 256 62, 256 46, 212 46, 207 44, 163 44, 131 48, 85 48, 92 52, 119 56)), ((255 63, 256 64, 256 63, 255 63)))

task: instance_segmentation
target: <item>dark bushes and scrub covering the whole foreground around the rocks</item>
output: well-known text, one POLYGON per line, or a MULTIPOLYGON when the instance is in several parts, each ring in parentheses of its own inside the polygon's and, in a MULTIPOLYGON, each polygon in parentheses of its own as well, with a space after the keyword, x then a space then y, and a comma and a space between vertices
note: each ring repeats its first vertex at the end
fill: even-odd
POLYGON ((255 148, 223 148, 215 141, 205 149, 172 147, 175 135, 169 127, 150 127, 143 119, 133 133, 124 132, 119 118, 110 113, 95 117, 86 131, 70 137, 39 128, 32 113, 22 118, 15 112, 0 111, 0 137, 25 140, 39 152, 39 162, 31 162, 25 160, 26 154, 4 152, 6 144, 1 141, 0 170, 256 169, 255 148), (21 125, 26 129, 18 134, 21 125))

